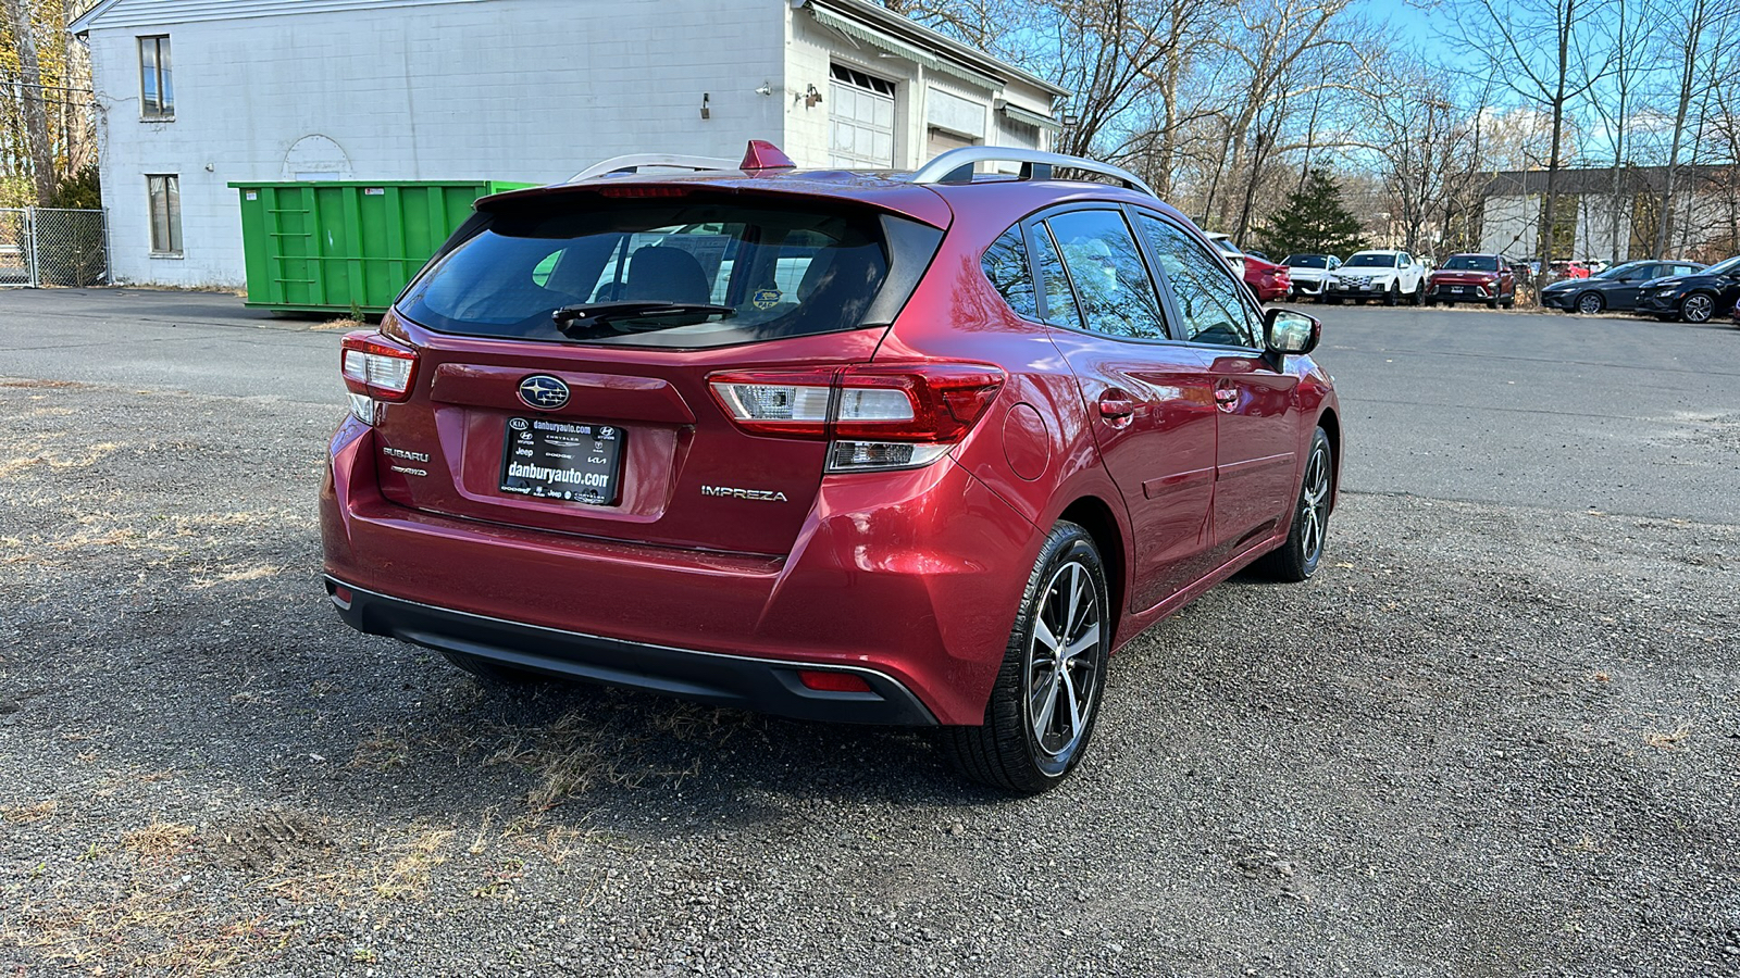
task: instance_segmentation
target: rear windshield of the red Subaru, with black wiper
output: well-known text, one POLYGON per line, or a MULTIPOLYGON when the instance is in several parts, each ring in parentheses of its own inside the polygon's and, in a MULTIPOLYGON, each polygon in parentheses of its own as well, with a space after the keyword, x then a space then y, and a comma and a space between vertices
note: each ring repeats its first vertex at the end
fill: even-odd
POLYGON ((917 284, 914 259, 922 258, 922 273, 940 240, 940 231, 872 211, 781 204, 595 195, 503 202, 418 277, 398 311, 465 336, 755 343, 889 322, 917 284), (934 235, 917 235, 929 240, 929 254, 908 254, 893 284, 905 294, 879 303, 891 284, 889 238, 912 238, 914 228, 934 235), (670 308, 639 311, 658 303, 670 308))

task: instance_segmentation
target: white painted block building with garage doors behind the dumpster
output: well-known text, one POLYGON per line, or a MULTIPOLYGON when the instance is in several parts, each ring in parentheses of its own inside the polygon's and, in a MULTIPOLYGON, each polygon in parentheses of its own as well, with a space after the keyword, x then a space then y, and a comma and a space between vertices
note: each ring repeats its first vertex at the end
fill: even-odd
POLYGON ((912 169, 1067 96, 867 0, 103 0, 117 280, 240 285, 231 181, 550 183, 604 157, 912 169))

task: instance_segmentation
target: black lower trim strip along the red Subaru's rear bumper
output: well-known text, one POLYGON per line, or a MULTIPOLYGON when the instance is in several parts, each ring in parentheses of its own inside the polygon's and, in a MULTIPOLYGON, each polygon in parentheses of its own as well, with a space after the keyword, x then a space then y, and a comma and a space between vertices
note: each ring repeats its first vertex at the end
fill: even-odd
POLYGON ((833 663, 760 660, 647 646, 579 632, 543 628, 404 600, 327 578, 327 593, 346 625, 438 653, 459 653, 505 667, 560 679, 647 689, 800 720, 847 724, 934 726, 936 717, 903 684, 880 672, 833 663), (870 693, 809 689, 797 670, 856 675, 870 693))

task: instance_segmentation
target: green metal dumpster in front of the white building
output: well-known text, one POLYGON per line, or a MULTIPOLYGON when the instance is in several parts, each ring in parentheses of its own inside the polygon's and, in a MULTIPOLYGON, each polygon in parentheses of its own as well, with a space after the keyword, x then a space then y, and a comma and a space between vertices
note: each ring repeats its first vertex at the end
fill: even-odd
POLYGON ((478 197, 501 181, 231 183, 242 193, 247 305, 385 313, 478 197))

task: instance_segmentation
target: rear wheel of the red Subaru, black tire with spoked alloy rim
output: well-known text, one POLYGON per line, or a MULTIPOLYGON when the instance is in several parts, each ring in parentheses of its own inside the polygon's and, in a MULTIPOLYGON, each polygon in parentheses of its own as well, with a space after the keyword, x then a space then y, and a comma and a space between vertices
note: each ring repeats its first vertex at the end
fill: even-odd
POLYGON ((1086 529, 1058 522, 1039 548, 1039 560, 1021 592, 1002 668, 985 703, 985 724, 943 727, 943 752, 962 774, 994 788, 1023 795, 1054 788, 1088 752, 1105 693, 1110 644, 1112 614, 1100 548, 1086 529), (1077 597, 1074 614, 1065 604, 1070 595, 1077 597), (1091 607, 1079 604, 1088 595, 1093 597, 1091 607), (1068 658, 1061 658, 1058 644, 1047 647, 1042 639, 1053 633, 1060 614, 1065 635, 1058 644, 1084 646, 1068 658), (1046 623, 1044 632, 1039 623, 1046 623), (1060 661, 1067 665, 1058 668, 1060 661), (1042 694, 1041 708, 1034 703, 1035 682, 1047 679, 1051 693, 1042 694), (1086 694, 1079 693, 1077 682, 1088 687, 1086 694), (1070 713, 1058 713, 1065 707, 1072 707, 1070 713), (1041 715, 1035 717, 1034 710, 1041 715))

